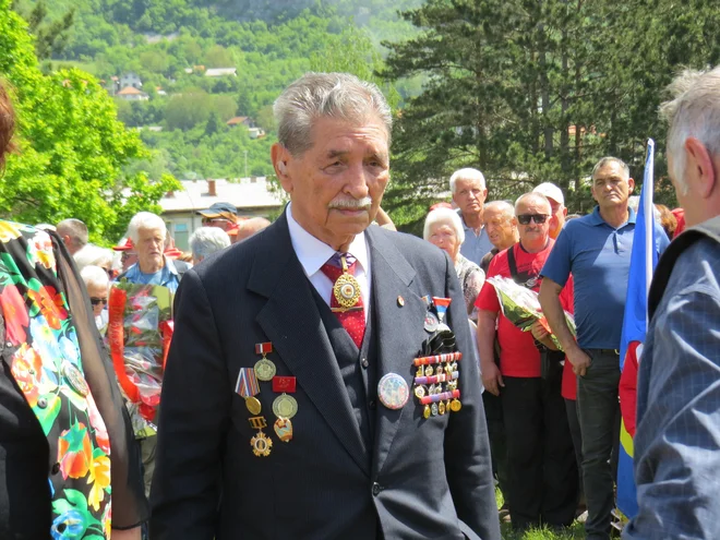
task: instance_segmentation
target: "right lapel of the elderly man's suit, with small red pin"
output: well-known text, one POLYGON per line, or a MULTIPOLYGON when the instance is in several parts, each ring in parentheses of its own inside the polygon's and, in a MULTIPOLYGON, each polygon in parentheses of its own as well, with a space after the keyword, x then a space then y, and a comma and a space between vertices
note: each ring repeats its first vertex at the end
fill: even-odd
POLYGON ((419 346, 427 338, 423 329, 427 307, 412 285, 415 269, 395 244, 372 227, 367 230, 367 237, 371 248, 373 309, 377 321, 377 380, 387 373, 397 373, 405 379, 410 389, 405 407, 388 409, 382 404, 377 407, 373 461, 375 473, 382 470, 400 420, 404 416, 412 415, 415 369, 409 355, 420 352, 419 346), (403 298, 401 302, 398 297, 403 298), (418 350, 408 351, 408 344, 413 343, 418 344, 418 350))

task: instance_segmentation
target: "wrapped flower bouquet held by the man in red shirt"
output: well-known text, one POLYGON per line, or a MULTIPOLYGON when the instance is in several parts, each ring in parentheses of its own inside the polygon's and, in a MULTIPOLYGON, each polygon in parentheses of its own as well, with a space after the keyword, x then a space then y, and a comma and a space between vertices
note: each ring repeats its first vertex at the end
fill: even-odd
MULTIPOLYGON (((536 291, 517 285, 508 277, 493 276, 488 278, 488 281, 494 287, 503 315, 511 323, 523 332, 529 332, 535 322, 540 321, 540 324, 550 333, 550 338, 555 347, 563 350, 560 341, 550 329, 548 320, 542 314, 542 308, 536 291)), ((575 336, 575 317, 567 311, 565 311, 565 321, 571 333, 575 336)))

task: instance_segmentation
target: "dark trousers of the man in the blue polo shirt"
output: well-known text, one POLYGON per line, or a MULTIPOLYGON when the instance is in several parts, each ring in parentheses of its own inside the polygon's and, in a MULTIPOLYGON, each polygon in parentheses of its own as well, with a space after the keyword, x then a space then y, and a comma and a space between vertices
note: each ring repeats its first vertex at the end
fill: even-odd
POLYGON ((620 358, 605 350, 591 349, 586 352, 592 362, 585 376, 577 379, 583 482, 588 505, 585 531, 588 539, 605 540, 610 538, 611 512, 615 506, 611 459, 620 437, 620 358))

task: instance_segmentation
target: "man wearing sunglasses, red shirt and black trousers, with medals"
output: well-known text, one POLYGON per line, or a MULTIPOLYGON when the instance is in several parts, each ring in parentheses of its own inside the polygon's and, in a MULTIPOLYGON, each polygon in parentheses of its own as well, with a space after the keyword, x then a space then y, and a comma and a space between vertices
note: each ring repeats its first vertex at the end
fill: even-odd
MULTIPOLYGON (((553 249, 550 238, 551 206, 540 193, 527 193, 515 203, 519 242, 490 263, 488 278, 512 278, 538 290, 540 271, 553 249)), ((563 301, 572 304, 572 287, 563 301)), ((561 365, 542 371, 541 353, 555 349, 547 331, 537 323, 521 332, 501 311, 494 286, 485 280, 476 305, 478 349, 482 384, 500 396, 509 470, 508 495, 513 528, 526 530, 548 525, 571 525, 577 504, 577 465, 565 403, 560 393, 561 365), (493 344, 500 346, 500 367, 493 344)))

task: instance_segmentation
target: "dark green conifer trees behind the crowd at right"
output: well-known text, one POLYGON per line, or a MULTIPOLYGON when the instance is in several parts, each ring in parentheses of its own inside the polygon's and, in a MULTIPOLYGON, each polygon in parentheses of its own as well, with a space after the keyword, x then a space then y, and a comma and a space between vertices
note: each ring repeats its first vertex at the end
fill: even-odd
POLYGON ((587 209, 583 181, 602 155, 641 178, 645 140, 663 139, 657 106, 680 62, 718 61, 708 0, 680 16, 671 0, 429 0, 404 16, 421 32, 386 44, 383 74, 427 79, 396 122, 387 199, 415 225, 465 166, 485 172, 492 199, 553 181, 572 209, 587 209))

